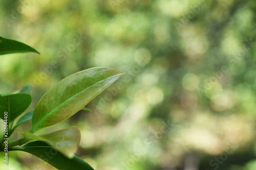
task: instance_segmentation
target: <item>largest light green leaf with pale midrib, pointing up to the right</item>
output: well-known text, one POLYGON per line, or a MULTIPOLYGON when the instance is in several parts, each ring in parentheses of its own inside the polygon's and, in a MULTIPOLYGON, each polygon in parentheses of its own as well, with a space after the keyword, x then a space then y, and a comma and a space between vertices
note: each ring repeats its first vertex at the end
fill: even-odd
POLYGON ((122 75, 113 68, 95 67, 61 80, 42 96, 35 107, 30 132, 66 120, 122 75))

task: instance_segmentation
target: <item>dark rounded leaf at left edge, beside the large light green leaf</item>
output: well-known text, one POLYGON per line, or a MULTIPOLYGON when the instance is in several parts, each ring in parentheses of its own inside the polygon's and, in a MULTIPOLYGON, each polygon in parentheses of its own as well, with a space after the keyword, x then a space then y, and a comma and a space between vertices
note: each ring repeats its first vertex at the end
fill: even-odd
POLYGON ((0 94, 0 117, 4 119, 4 112, 8 112, 8 122, 22 114, 31 104, 31 95, 27 93, 0 94))

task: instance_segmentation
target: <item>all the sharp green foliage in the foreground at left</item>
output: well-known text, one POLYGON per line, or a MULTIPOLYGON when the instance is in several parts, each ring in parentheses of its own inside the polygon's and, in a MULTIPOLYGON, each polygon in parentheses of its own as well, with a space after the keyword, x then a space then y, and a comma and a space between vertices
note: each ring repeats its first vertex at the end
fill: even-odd
MULTIPOLYGON (((0 37, 0 55, 20 52, 38 53, 34 48, 22 42, 0 37)), ((33 133, 63 122, 79 110, 86 109, 85 105, 122 75, 121 71, 108 67, 95 67, 77 72, 53 86, 42 96, 35 109, 23 114, 14 126, 14 120, 24 113, 31 104, 31 95, 28 93, 1 94, 0 117, 4 120, 6 128, 1 138, 0 151, 28 152, 44 159, 58 169, 67 169, 68 167, 68 169, 93 169, 74 154, 81 138, 77 127, 53 130, 41 135, 33 133), (16 129, 30 119, 32 119, 32 125, 29 132, 16 129), (6 148, 5 142, 8 141, 6 138, 9 138, 14 130, 24 138, 8 143, 8 148, 6 148), (31 140, 38 141, 30 142, 31 140), (30 143, 23 147, 16 147, 27 142, 30 143), (49 160, 41 157, 42 153, 51 149, 55 151, 54 158, 49 160)), ((27 90, 28 87, 24 87, 21 91, 27 90)))

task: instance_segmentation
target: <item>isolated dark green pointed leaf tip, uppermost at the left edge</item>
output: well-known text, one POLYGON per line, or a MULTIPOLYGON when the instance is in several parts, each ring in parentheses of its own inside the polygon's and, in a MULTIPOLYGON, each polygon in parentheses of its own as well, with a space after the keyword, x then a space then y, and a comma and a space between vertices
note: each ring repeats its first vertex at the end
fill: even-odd
POLYGON ((27 44, 12 39, 0 37, 0 55, 26 52, 34 52, 40 54, 34 48, 27 44))

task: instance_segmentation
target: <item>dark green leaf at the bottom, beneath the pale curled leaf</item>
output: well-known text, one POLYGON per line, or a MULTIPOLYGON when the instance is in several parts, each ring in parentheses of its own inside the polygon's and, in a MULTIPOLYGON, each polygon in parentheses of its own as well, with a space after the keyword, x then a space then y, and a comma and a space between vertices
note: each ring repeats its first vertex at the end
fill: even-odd
POLYGON ((68 159, 61 153, 57 152, 54 147, 49 147, 43 141, 34 141, 27 143, 23 147, 13 147, 10 151, 24 151, 45 160, 57 169, 73 169, 73 170, 94 170, 87 162, 78 156, 68 159))

